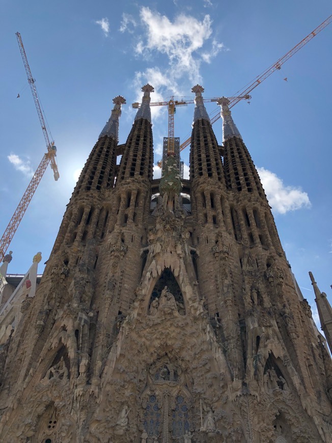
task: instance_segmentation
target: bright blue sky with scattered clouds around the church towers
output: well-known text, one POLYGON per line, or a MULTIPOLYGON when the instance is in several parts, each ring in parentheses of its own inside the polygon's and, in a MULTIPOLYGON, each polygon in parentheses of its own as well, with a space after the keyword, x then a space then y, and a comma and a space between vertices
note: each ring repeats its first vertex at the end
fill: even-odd
MULTIPOLYGON (((41 251, 46 261, 77 174, 123 95, 120 143, 129 133, 141 86, 152 100, 233 96, 330 15, 330 2, 174 0, 42 2, 1 0, 1 235, 44 152, 15 32, 20 32, 58 148, 60 179, 50 168, 10 246, 11 273, 24 273, 41 251), (17 94, 20 98, 17 99, 17 94)), ((308 271, 331 299, 332 25, 238 103, 233 118, 259 168, 276 226, 303 295, 314 304, 308 271), (287 77, 287 81, 284 78, 287 77)), ((216 107, 207 103, 208 112, 216 107)), ((175 135, 190 134, 193 106, 180 107, 175 135)), ((222 121, 214 125, 222 142, 222 121)), ((153 110, 155 161, 167 135, 167 111, 153 110)), ((188 148, 183 160, 188 163, 188 148)), ((40 266, 42 270, 42 266, 40 266)))

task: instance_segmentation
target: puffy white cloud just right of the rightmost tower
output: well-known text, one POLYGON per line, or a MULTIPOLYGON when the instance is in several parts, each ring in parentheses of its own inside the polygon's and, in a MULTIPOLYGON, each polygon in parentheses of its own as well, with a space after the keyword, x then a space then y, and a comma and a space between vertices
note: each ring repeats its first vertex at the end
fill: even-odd
POLYGON ((257 168, 263 188, 272 210, 285 214, 300 208, 310 208, 311 203, 307 192, 300 187, 286 186, 273 172, 257 168))

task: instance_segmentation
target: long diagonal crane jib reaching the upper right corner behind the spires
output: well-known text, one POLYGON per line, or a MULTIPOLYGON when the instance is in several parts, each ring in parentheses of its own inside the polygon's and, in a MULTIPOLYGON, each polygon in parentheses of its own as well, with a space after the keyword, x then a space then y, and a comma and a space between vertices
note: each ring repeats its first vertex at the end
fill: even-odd
MULTIPOLYGON (((273 63, 273 65, 269 66, 262 74, 258 75, 251 85, 246 86, 240 89, 235 95, 233 99, 230 99, 229 108, 236 105, 241 100, 241 97, 250 94, 258 85, 261 84, 267 77, 269 77, 274 71, 280 70, 282 65, 287 62, 299 49, 305 46, 312 38, 314 38, 319 32, 321 32, 324 27, 326 27, 332 21, 332 15, 330 15, 326 20, 324 20, 319 26, 314 29, 310 34, 307 35, 303 40, 301 40, 296 46, 293 47, 290 51, 288 51, 283 57, 281 57, 278 61, 273 63)), ((215 123, 220 118, 220 112, 217 113, 211 118, 211 124, 215 123)), ((184 141, 180 145, 180 151, 186 148, 190 144, 190 137, 184 141)), ((159 163, 158 163, 159 165, 159 163)))

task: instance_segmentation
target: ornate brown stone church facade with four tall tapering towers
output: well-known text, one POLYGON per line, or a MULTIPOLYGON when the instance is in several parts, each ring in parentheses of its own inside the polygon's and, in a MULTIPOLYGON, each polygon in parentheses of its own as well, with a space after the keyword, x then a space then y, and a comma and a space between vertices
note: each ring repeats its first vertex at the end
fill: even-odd
POLYGON ((228 99, 224 159, 197 85, 190 180, 172 155, 153 180, 142 90, 124 145, 114 99, 3 347, 0 440, 332 441, 331 359, 228 99))

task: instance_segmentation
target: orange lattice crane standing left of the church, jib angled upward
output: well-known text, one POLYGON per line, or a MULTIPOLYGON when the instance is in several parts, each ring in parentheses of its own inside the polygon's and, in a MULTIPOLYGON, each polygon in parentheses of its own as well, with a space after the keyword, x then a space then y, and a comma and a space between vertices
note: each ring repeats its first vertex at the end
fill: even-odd
POLYGON ((39 166, 38 166, 33 178, 31 179, 31 182, 27 186, 26 191, 24 192, 23 197, 21 198, 21 201, 19 202, 19 204, 14 212, 14 215, 12 216, 12 218, 11 218, 11 220, 10 220, 10 222, 9 222, 9 224, 8 224, 8 226, 7 226, 5 232, 0 240, 0 260, 2 260, 6 254, 8 246, 14 237, 14 234, 18 228, 18 225, 20 224, 20 221, 26 211, 26 208, 29 206, 31 199, 33 198, 35 190, 37 189, 37 186, 39 185, 40 180, 42 179, 42 177, 44 175, 44 172, 47 168, 48 163, 51 163, 51 168, 53 170, 54 180, 58 180, 60 177, 59 172, 58 172, 56 158, 55 158, 57 155, 57 148, 56 148, 56 146, 54 146, 54 141, 51 141, 51 142, 49 141, 49 136, 48 136, 46 125, 45 125, 45 120, 44 120, 43 112, 42 112, 42 109, 40 106, 40 100, 38 98, 38 93, 37 93, 37 89, 36 89, 36 85, 35 85, 35 80, 32 76, 29 63, 27 62, 26 53, 24 50, 21 35, 19 32, 17 32, 15 35, 16 35, 18 46, 19 46, 21 56, 23 59, 24 68, 25 68, 26 75, 27 75, 27 81, 29 82, 29 85, 30 85, 30 88, 32 91, 32 95, 34 97, 39 121, 40 121, 42 130, 43 130, 43 134, 45 137, 47 152, 44 154, 41 162, 39 163, 39 166))

